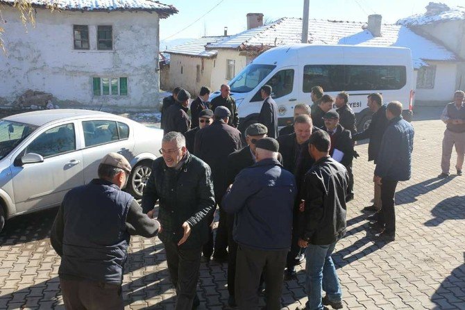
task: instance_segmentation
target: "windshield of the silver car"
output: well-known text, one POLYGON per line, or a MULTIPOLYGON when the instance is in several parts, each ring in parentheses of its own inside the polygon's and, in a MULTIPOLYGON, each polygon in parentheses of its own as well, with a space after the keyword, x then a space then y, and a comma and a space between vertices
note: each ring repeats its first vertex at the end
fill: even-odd
POLYGON ((10 154, 37 126, 0 120, 0 159, 10 154))

